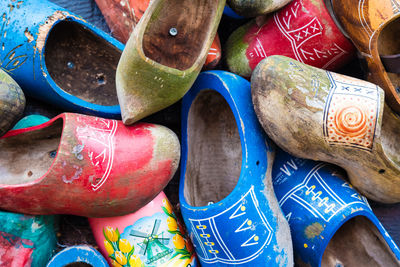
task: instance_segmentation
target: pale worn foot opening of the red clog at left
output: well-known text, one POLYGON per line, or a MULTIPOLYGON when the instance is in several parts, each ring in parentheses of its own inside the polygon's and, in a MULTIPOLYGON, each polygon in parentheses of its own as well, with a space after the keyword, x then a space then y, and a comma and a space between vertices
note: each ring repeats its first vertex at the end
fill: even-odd
POLYGON ((0 139, 0 184, 23 184, 42 177, 55 160, 63 120, 0 139))

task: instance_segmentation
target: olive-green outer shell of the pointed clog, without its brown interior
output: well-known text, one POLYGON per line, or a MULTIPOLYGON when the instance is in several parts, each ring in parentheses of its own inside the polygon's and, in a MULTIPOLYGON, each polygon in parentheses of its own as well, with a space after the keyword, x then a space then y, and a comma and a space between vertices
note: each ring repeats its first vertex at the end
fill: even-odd
POLYGON ((143 35, 147 26, 159 16, 164 1, 151 2, 129 38, 118 64, 116 85, 125 124, 132 124, 172 105, 190 89, 207 57, 225 6, 225 0, 219 0, 215 5, 215 16, 207 26, 209 31, 202 50, 197 53, 198 58, 189 68, 179 70, 162 65, 143 52, 143 35))

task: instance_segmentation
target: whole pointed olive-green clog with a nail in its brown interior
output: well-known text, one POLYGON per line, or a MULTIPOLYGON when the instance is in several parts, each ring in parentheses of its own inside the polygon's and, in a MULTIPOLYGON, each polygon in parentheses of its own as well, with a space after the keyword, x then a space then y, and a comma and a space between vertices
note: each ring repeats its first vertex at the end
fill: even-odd
POLYGON ((225 0, 154 0, 117 68, 122 120, 132 124, 190 89, 211 47, 225 0))

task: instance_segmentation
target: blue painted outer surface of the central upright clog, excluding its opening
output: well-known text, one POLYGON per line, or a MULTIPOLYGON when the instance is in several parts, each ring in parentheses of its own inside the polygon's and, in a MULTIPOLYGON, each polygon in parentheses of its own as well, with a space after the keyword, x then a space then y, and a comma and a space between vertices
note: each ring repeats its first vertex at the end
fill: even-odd
POLYGON ((254 113, 250 83, 225 71, 201 73, 182 103, 179 199, 183 219, 202 266, 275 266, 277 258, 281 259, 283 265, 288 261, 285 251, 277 245, 276 213, 262 193, 265 190, 266 194, 273 194, 264 185, 268 152, 271 152, 269 139, 254 113), (190 106, 201 90, 215 90, 229 104, 240 134, 242 167, 236 187, 225 199, 206 207, 193 207, 184 197, 188 153, 187 121, 190 106), (247 225, 249 220, 252 227, 247 225), (255 240, 256 236, 258 238, 255 240))

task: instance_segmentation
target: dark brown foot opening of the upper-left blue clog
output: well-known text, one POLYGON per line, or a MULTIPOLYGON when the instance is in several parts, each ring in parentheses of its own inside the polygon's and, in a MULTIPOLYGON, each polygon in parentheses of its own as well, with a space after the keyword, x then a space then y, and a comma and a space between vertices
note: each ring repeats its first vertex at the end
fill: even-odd
POLYGON ((47 70, 61 90, 92 104, 118 105, 115 72, 121 52, 74 21, 61 21, 45 46, 47 70))

